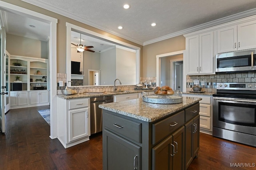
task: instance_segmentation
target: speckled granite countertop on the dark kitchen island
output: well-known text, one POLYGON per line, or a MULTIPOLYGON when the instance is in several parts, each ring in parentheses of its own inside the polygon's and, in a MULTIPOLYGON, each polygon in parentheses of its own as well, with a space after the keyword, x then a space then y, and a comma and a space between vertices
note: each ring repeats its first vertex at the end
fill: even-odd
POLYGON ((142 98, 139 98, 123 102, 100 104, 99 107, 142 121, 152 122, 167 115, 171 115, 172 113, 195 104, 200 100, 202 100, 202 98, 183 97, 183 101, 180 104, 152 104, 143 102, 142 98))

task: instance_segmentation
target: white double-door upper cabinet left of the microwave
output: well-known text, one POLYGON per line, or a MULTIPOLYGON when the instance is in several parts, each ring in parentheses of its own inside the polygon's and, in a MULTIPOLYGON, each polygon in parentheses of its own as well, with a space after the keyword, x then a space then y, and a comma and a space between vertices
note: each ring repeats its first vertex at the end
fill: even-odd
POLYGON ((214 74, 213 31, 186 37, 187 74, 214 74))

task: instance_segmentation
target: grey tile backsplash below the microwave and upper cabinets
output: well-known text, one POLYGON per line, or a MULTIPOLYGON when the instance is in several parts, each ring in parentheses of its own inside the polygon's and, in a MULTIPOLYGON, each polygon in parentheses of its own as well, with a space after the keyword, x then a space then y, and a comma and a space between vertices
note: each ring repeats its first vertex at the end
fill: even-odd
POLYGON ((256 82, 256 73, 216 73, 214 75, 187 76, 186 79, 187 91, 191 91, 194 80, 199 80, 199 86, 203 88, 204 92, 216 92, 217 82, 256 82), (201 84, 202 81, 204 84, 201 84))

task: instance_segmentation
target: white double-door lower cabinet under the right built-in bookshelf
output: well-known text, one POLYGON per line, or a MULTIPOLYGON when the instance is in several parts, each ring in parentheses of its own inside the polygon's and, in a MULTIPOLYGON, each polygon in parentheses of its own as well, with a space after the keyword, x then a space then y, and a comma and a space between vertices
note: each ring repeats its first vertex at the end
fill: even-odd
POLYGON ((30 104, 43 104, 49 103, 49 91, 31 91, 30 94, 30 104))

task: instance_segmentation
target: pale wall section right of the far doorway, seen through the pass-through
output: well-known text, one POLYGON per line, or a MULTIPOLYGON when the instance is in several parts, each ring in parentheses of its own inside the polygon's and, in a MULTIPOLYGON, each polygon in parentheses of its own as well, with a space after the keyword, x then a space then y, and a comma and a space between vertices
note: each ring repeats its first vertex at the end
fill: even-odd
POLYGON ((100 85, 113 85, 116 79, 116 48, 100 53, 100 85))

